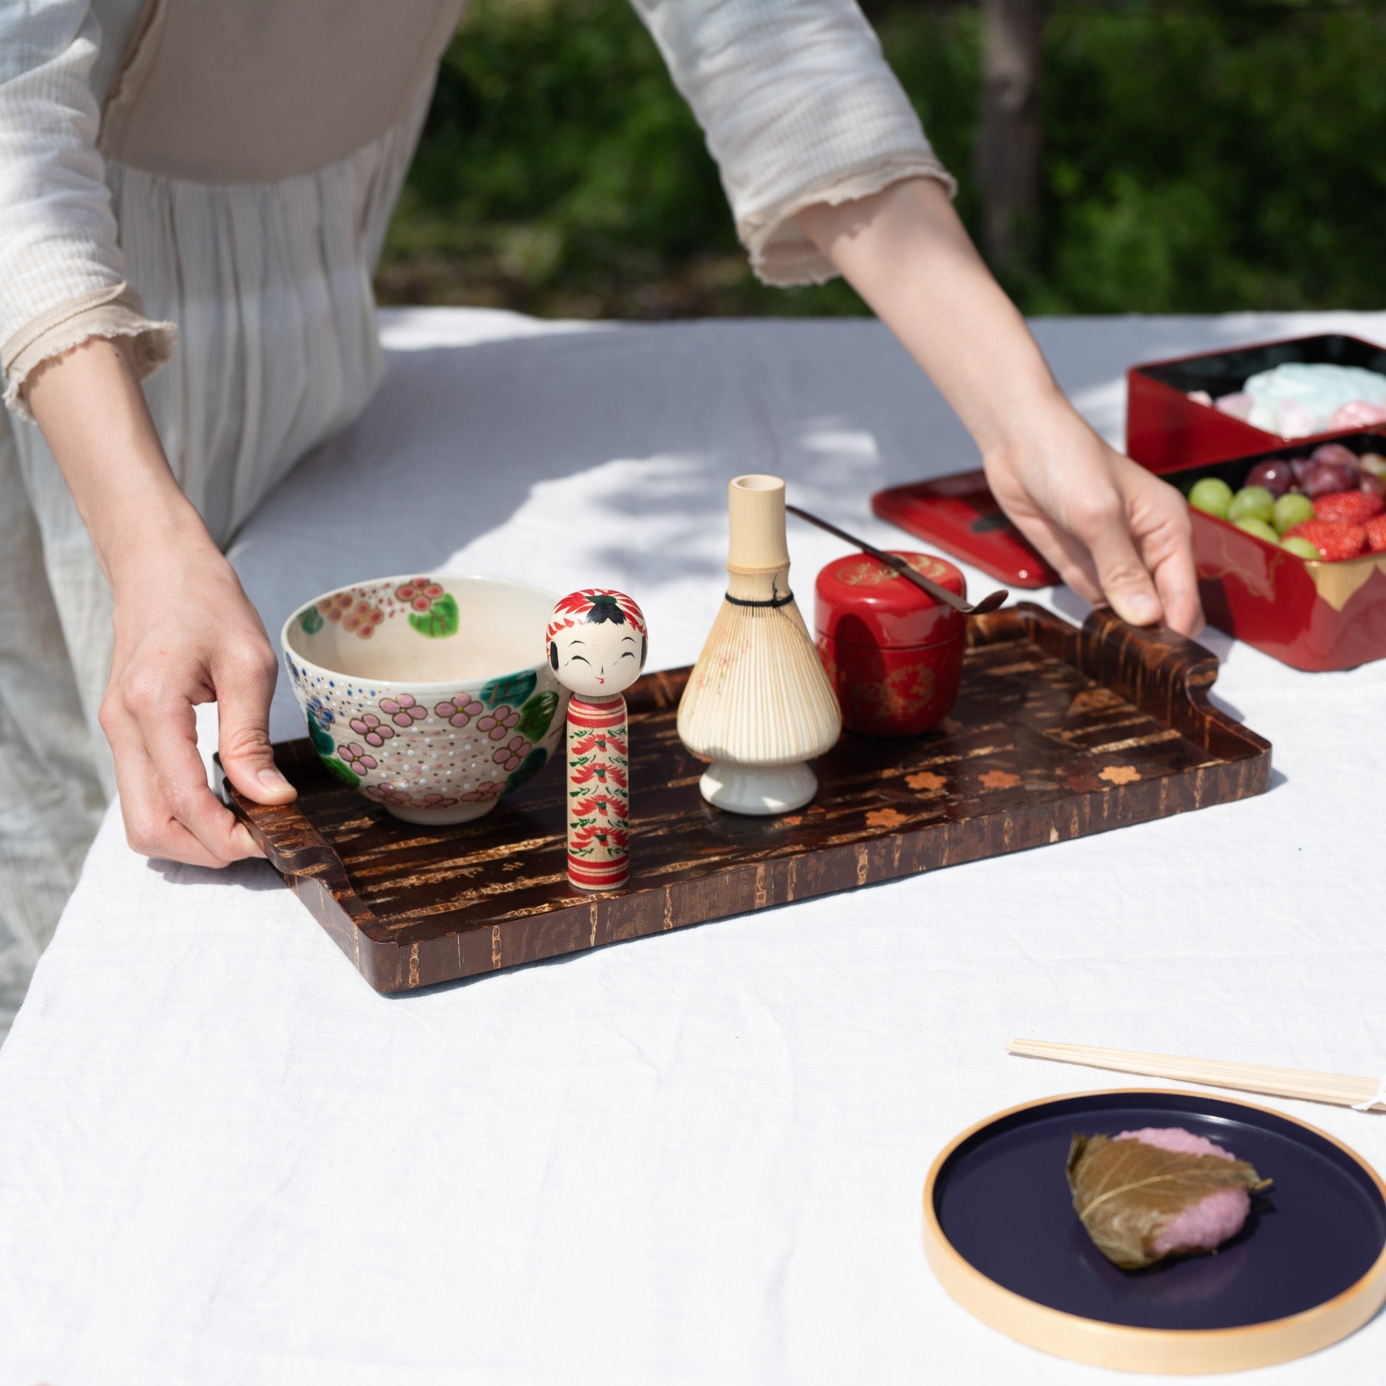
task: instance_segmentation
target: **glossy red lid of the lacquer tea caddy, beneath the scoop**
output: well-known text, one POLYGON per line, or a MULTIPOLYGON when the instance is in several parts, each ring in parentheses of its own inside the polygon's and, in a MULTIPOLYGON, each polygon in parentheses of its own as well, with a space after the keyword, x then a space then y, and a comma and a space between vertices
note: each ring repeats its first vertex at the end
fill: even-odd
MULTIPOLYGON (((966 597, 966 579, 947 559, 900 549, 888 552, 920 575, 966 597)), ((814 596, 818 633, 847 644, 875 649, 941 644, 960 640, 967 624, 962 613, 866 553, 850 553, 826 564, 818 574, 814 596)))

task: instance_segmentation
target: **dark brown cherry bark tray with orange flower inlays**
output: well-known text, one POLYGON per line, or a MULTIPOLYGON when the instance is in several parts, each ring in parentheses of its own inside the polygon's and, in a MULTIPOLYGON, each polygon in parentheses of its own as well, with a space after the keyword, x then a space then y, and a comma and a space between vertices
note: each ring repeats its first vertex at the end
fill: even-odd
POLYGON ((743 818, 699 794, 675 712, 687 669, 649 674, 631 708, 631 883, 568 886, 559 766, 485 818, 417 827, 276 746, 298 800, 225 783, 274 869, 377 991, 407 991, 1124 827, 1263 793, 1271 747, 1217 711, 1217 660, 1095 613, 1080 631, 1021 604, 974 617, 951 717, 912 740, 844 733, 818 797, 743 818))

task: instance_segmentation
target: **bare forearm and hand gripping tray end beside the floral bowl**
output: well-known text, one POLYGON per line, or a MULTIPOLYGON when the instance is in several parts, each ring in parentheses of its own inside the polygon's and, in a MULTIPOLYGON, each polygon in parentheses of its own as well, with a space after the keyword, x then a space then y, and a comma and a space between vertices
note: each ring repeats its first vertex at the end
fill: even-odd
POLYGON ((115 597, 101 726, 130 845, 194 866, 263 855, 208 787, 193 708, 216 701, 231 783, 258 802, 287 804, 295 790, 267 735, 274 653, 169 471, 128 345, 94 340, 49 362, 28 401, 115 597))

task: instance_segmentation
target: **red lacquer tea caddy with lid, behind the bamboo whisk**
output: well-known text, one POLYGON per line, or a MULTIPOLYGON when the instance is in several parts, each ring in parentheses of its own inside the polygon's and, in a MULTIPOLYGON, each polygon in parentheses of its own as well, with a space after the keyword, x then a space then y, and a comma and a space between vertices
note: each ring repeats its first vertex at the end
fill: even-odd
MULTIPOLYGON (((963 575, 944 559, 891 550, 960 597, 963 575)), ((818 653, 843 710, 866 736, 918 736, 958 696, 967 618, 865 553, 834 559, 814 586, 818 653)))

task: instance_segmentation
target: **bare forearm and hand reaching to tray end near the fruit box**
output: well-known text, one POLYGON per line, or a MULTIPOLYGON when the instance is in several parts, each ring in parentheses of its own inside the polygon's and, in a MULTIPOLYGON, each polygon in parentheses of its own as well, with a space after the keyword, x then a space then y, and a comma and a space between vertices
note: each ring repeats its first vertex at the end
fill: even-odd
POLYGON ((1189 518, 1173 486, 1109 448, 1063 396, 945 188, 906 179, 798 213, 938 385, 1001 507, 1089 602, 1135 625, 1203 626, 1189 518))

